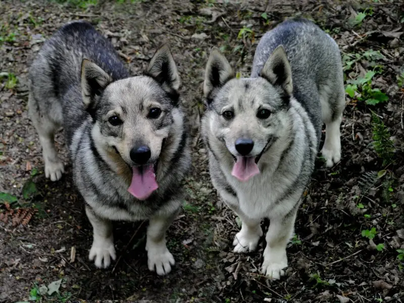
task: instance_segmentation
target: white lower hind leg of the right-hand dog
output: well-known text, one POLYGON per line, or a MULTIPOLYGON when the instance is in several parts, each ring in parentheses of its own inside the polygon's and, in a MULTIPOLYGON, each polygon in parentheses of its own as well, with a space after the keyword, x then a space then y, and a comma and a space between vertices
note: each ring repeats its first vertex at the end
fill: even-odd
POLYGON ((321 154, 326 160, 327 167, 332 167, 341 160, 341 139, 339 130, 341 121, 342 115, 334 121, 326 123, 325 126, 325 141, 321 149, 321 154))

